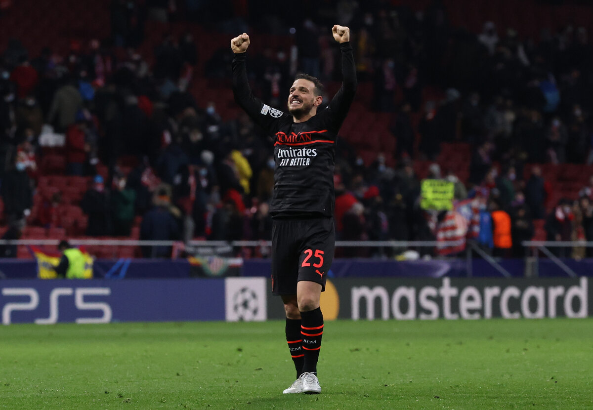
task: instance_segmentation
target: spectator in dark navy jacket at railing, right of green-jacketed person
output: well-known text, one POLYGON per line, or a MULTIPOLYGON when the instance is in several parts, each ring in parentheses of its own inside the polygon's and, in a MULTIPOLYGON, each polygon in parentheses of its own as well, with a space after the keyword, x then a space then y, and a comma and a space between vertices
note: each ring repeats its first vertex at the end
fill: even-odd
MULTIPOLYGON (((140 226, 142 241, 177 241, 181 237, 181 212, 171 204, 170 191, 158 188, 154 207, 146 212, 140 226)), ((171 246, 143 246, 145 258, 170 258, 171 246)))

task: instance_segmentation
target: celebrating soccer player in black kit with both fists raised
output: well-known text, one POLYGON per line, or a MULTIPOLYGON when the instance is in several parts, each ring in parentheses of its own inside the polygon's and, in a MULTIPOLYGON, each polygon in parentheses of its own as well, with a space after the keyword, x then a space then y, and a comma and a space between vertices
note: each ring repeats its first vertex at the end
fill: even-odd
POLYGON ((323 335, 319 300, 334 256, 334 152, 336 137, 356 91, 350 29, 334 25, 342 52, 342 88, 320 110, 323 85, 298 74, 289 91, 288 113, 264 104, 247 81, 249 36, 231 40, 235 101, 274 140, 272 292, 286 312, 286 341, 297 380, 283 393, 321 393, 317 360, 323 335), (318 112, 319 110, 319 112, 318 112))

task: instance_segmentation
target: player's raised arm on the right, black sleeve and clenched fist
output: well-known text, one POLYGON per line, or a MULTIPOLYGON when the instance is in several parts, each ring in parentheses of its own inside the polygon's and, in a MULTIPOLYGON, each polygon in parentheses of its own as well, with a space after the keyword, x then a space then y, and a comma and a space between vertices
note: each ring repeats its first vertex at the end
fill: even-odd
POLYGON ((342 87, 336 92, 329 104, 336 126, 339 128, 346 118, 350 104, 354 100, 358 79, 356 79, 356 66, 354 64, 352 44, 350 44, 350 28, 336 24, 331 28, 331 33, 334 40, 340 43, 340 52, 342 53, 342 87))

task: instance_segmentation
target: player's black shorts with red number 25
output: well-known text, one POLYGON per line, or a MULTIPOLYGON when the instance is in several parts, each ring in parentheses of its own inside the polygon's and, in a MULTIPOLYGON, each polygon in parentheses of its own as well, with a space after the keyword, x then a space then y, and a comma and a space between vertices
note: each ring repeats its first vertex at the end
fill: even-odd
POLYGON ((297 294, 297 282, 313 281, 326 290, 333 261, 333 218, 275 219, 272 224, 272 293, 297 294))

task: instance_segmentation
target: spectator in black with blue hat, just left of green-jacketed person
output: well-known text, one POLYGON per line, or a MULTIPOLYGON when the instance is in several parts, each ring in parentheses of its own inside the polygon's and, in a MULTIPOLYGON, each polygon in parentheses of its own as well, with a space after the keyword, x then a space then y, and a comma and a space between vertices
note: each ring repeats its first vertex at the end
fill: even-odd
POLYGON ((81 207, 88 216, 88 236, 111 235, 110 201, 101 175, 93 178, 93 186, 82 197, 81 207))

